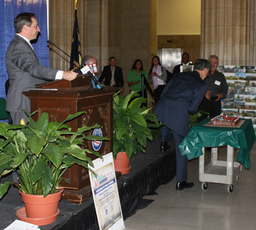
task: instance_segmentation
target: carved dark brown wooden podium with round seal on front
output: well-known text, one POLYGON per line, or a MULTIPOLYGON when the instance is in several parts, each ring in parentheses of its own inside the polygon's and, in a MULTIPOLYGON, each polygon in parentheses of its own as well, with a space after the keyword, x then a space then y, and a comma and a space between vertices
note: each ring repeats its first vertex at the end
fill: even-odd
MULTIPOLYGON (((82 126, 92 126, 95 123, 101 125, 103 137, 110 140, 102 141, 99 150, 93 148, 90 141, 86 141, 86 148, 98 151, 101 155, 113 151, 113 94, 117 92, 117 87, 105 86, 98 90, 90 85, 88 75, 79 75, 75 80, 57 80, 37 85, 30 91, 23 92, 31 100, 31 112, 38 110, 33 118, 38 120, 43 112, 49 114, 50 121, 63 121, 69 114, 85 111, 85 114, 68 122, 72 130, 76 131, 82 126)), ((90 130, 87 135, 92 135, 90 130)), ((91 159, 96 156, 90 155, 91 159)), ((73 165, 64 176, 71 185, 62 181, 61 186, 65 187, 62 198, 69 202, 81 203, 85 201, 92 191, 90 188, 89 173, 87 169, 80 165, 73 165), (70 188, 70 189, 69 189, 70 188)))

